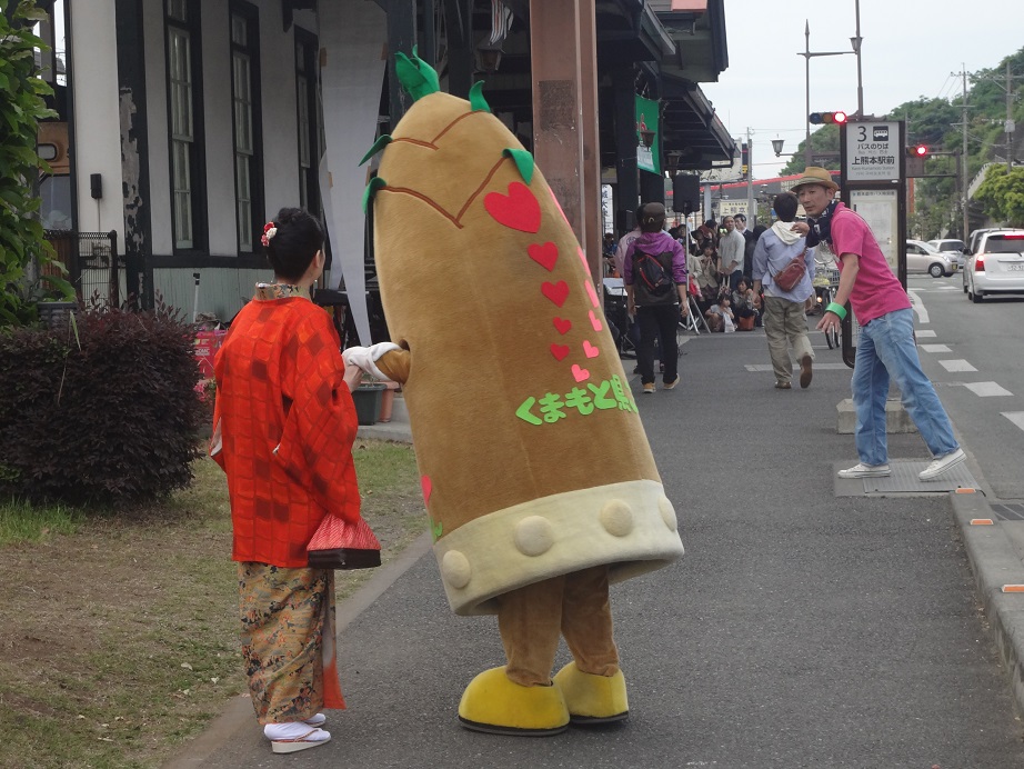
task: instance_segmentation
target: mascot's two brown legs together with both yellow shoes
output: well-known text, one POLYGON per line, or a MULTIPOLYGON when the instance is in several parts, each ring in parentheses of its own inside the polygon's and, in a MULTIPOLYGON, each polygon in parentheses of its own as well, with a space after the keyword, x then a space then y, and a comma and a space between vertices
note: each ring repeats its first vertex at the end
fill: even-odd
POLYGON ((606 567, 504 593, 499 597, 498 628, 508 665, 480 673, 466 687, 459 706, 463 726, 543 736, 564 730, 570 719, 596 723, 626 718, 606 567), (560 633, 573 661, 552 681, 560 633))

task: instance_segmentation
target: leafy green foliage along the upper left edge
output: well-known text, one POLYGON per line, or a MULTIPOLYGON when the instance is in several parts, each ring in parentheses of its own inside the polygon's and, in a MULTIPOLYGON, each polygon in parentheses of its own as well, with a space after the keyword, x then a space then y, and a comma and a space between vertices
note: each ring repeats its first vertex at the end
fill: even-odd
POLYGON ((46 46, 32 26, 44 19, 34 0, 0 0, 0 326, 36 320, 44 283, 66 294, 70 288, 39 274, 53 252, 39 222, 40 200, 27 192, 47 168, 36 151, 39 121, 57 117, 44 101, 52 89, 36 63, 36 51, 46 46))

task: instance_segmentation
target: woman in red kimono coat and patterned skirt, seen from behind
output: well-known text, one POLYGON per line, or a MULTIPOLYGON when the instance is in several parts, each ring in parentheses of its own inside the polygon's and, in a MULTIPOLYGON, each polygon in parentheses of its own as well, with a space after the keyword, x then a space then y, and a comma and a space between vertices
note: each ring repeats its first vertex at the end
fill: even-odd
POLYGON ((334 572, 310 569, 324 516, 359 520, 358 418, 327 312, 310 300, 323 232, 282 209, 263 232, 273 283, 231 324, 214 361, 210 456, 228 475, 249 691, 274 752, 327 742, 321 708, 342 709, 334 661, 334 572))

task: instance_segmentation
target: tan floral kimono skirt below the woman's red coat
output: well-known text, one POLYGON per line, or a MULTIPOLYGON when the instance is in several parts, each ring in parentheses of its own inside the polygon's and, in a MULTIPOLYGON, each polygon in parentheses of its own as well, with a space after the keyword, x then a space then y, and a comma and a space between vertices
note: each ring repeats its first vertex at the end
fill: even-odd
POLYGON ((261 725, 345 707, 334 655, 334 572, 240 562, 242 657, 261 725))

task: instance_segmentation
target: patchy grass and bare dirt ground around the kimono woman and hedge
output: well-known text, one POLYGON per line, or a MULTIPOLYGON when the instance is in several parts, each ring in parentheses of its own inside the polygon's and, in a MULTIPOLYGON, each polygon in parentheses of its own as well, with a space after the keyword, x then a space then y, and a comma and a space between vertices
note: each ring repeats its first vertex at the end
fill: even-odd
MULTIPOLYGON (((412 448, 358 440, 384 561, 425 528, 412 448)), ((245 690, 223 472, 129 513, 0 505, 0 767, 159 767, 245 690)), ((370 571, 339 571, 338 600, 370 571)))

